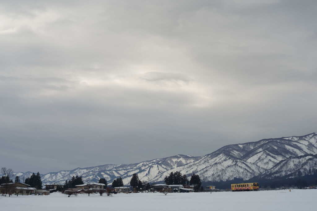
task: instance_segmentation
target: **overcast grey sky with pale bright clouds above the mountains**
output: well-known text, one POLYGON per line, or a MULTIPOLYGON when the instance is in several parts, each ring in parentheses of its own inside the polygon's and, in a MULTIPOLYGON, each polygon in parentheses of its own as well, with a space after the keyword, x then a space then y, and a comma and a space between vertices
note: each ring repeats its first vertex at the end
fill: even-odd
POLYGON ((201 156, 317 132, 317 2, 0 2, 0 167, 201 156))

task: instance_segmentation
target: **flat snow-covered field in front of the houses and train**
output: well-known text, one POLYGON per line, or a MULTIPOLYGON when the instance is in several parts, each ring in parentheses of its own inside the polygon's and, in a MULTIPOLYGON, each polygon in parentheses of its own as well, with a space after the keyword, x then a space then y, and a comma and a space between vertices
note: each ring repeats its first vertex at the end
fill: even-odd
POLYGON ((1 210, 317 210, 317 190, 0 196, 1 210))

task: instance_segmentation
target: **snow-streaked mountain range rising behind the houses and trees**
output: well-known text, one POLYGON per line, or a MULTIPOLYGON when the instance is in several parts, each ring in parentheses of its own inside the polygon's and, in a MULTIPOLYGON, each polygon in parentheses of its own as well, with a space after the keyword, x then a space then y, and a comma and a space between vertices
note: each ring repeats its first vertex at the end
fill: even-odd
MULTIPOLYGON (((272 179, 313 174, 317 169, 317 133, 262 139, 256 142, 227 145, 201 157, 175 155, 143 161, 136 164, 105 164, 70 171, 42 174, 42 182, 60 183, 73 176, 82 176, 85 182, 97 182, 104 177, 108 183, 122 177, 125 184, 138 173, 142 181, 157 183, 171 171, 180 171, 190 177, 198 174, 204 181, 226 181, 252 177, 272 179)), ((29 177, 31 172, 15 172, 15 176, 29 177)))

